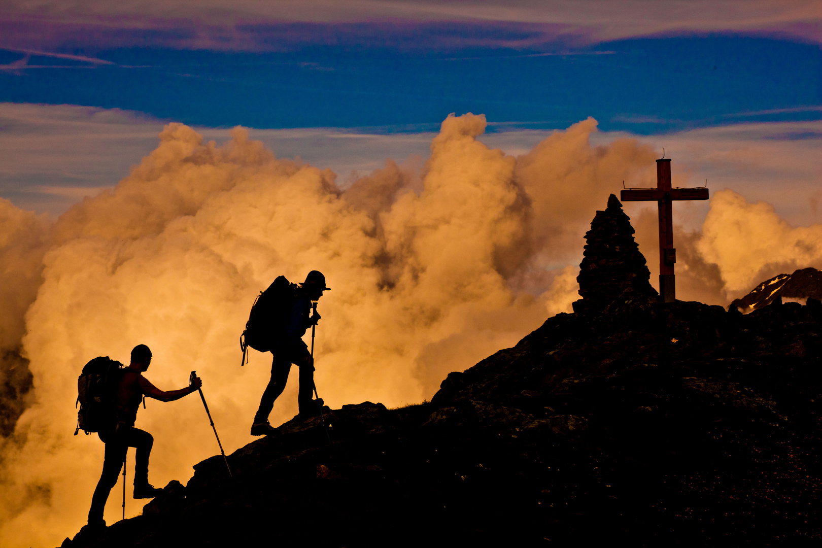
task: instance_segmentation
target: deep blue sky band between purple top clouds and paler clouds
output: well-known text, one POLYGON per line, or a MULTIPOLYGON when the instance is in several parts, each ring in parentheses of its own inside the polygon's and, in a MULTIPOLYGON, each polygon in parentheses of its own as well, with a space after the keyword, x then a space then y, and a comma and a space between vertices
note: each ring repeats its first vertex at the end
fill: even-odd
POLYGON ((732 122, 820 119, 816 44, 733 35, 537 48, 402 51, 307 44, 287 52, 112 48, 94 62, 0 51, 0 101, 122 108, 208 127, 433 130, 448 113, 498 129, 649 135, 732 122), (33 68, 25 68, 21 62, 33 68))

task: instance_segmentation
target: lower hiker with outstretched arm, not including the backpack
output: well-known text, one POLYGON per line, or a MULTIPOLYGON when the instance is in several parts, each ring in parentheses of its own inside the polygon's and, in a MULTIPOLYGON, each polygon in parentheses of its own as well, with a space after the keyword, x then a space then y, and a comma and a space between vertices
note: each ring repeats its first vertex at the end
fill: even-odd
POLYGON ((152 385, 142 375, 151 364, 151 351, 145 344, 138 344, 132 349, 131 364, 120 370, 121 378, 117 386, 117 423, 116 426, 99 431, 100 440, 105 444, 103 473, 97 482, 95 494, 91 497, 89 510, 89 528, 105 527, 103 510, 109 499, 111 488, 117 483, 123 460, 129 447, 135 447, 136 464, 134 469, 134 498, 152 499, 162 492, 149 483, 149 454, 154 444, 154 437, 148 432, 134 427, 137 409, 143 396, 159 399, 161 402, 173 402, 201 387, 200 377, 192 384, 179 390, 165 392, 152 385))

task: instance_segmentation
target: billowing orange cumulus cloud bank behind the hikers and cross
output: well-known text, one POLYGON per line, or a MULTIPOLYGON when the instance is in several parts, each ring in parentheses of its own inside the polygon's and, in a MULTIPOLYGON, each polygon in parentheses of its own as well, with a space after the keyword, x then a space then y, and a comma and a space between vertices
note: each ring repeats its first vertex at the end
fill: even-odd
MULTIPOLYGON (((319 269, 332 288, 320 302, 316 384, 334 407, 430 398, 449 371, 570 312, 595 210, 621 179, 653 177, 653 151, 628 138, 592 146, 589 118, 512 156, 478 140, 486 125, 483 115, 447 117, 423 165, 386 160, 340 184, 330 170, 278 158, 242 128, 217 145, 173 123, 128 177, 56 222, 0 202, 0 298, 13 312, 0 333, 12 352, 3 374, 13 361, 33 385, 9 411, 25 408, 3 441, 0 543, 55 545, 85 520, 103 444, 72 435, 73 404, 91 357, 127 361, 134 345, 148 344, 155 385, 180 388, 196 370, 226 448, 251 441, 270 356, 252 352, 240 367, 238 335, 257 292, 279 274, 299 281, 319 269)), ((723 223, 742 234, 745 223, 770 219, 777 232, 760 231, 763 242, 783 236, 760 242, 760 262, 785 242, 816 241, 815 228, 790 228, 734 196, 718 193, 704 232, 677 241, 686 250, 681 297, 709 287, 721 299, 764 268, 734 278, 744 259, 723 239, 737 237, 723 223)), ((655 219, 640 214, 635 223, 653 265, 655 219)), ((25 389, 25 379, 15 382, 25 389)), ((295 385, 272 423, 297 411, 295 385)), ((156 485, 186 481, 192 464, 215 454, 196 398, 150 400, 138 426, 157 440, 156 485)), ((109 522, 119 515, 114 498, 109 522)), ((134 515, 141 504, 127 508, 134 515)))

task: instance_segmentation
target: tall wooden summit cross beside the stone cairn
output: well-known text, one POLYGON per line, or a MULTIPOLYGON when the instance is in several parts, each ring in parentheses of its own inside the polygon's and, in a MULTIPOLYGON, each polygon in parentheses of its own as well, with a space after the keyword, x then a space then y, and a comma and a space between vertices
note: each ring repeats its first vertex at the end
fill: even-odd
POLYGON ((621 192, 622 201, 656 201, 659 208, 659 300, 677 300, 677 283, 673 265, 677 250, 673 246, 671 202, 673 200, 708 200, 708 189, 671 188, 671 159, 657 160, 656 188, 629 188, 621 192))

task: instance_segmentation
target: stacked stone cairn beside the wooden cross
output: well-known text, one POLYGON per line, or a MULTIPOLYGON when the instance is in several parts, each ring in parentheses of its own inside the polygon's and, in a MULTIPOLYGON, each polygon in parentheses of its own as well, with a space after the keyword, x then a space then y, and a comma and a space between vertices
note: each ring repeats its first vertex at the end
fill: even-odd
POLYGON ((574 302, 575 312, 603 311, 626 291, 635 297, 657 297, 645 257, 634 241, 634 227, 617 196, 608 196, 607 209, 597 211, 585 241, 576 278, 582 298, 574 302))

